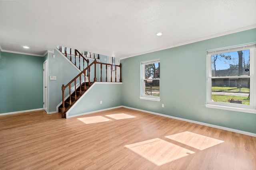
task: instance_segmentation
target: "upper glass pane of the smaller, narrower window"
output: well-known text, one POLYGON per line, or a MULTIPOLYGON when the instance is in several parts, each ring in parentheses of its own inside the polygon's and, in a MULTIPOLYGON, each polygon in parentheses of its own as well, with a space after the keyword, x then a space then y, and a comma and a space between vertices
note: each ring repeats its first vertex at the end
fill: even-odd
POLYGON ((145 79, 160 78, 160 63, 145 64, 145 79))

